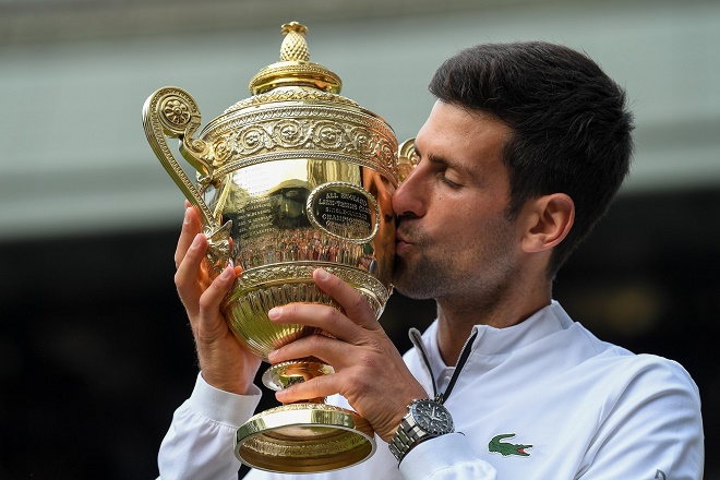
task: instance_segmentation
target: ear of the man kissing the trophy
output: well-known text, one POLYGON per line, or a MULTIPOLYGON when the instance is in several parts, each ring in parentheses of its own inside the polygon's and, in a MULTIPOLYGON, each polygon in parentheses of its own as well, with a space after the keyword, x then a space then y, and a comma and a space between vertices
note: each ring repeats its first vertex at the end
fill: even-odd
POLYGON ((557 245, 575 220, 575 203, 565 193, 553 193, 528 202, 524 208, 523 250, 532 253, 557 245))

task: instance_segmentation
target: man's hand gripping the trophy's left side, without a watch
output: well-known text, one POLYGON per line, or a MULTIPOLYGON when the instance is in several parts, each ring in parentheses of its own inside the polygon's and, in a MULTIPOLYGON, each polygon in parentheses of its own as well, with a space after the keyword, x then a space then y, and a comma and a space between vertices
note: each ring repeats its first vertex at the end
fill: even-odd
POLYGON ((185 202, 175 284, 188 311, 202 375, 216 388, 243 395, 250 392, 261 359, 238 341, 220 313, 220 302, 242 268, 228 266, 211 280, 203 262, 207 245, 200 215, 185 202))

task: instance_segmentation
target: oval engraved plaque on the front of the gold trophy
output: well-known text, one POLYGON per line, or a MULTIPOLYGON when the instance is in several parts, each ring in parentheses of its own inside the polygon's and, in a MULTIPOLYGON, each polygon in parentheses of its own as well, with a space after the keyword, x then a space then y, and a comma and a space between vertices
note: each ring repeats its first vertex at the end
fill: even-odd
POLYGON ((379 207, 363 189, 345 182, 329 182, 308 197, 308 217, 331 237, 356 244, 370 242, 377 233, 379 207))

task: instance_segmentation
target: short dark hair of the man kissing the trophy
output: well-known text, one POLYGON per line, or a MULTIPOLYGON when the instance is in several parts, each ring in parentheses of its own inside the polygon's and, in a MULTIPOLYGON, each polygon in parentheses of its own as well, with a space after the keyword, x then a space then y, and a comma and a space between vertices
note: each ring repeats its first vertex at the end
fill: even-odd
POLYGON ((633 116, 624 91, 587 56, 542 41, 465 49, 437 69, 429 88, 513 130, 503 151, 509 218, 530 199, 559 192, 573 199, 575 223, 548 265, 554 277, 627 176, 633 116))

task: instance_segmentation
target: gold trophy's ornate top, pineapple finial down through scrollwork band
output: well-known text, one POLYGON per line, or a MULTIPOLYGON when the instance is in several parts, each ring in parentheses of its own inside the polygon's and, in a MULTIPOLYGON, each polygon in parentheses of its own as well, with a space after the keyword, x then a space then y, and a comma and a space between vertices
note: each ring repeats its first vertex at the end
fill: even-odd
POLYGON ((280 61, 261 69, 250 80, 252 95, 200 132, 207 152, 193 160, 205 167, 206 181, 260 163, 312 158, 360 165, 397 182, 392 127, 339 95, 340 77, 310 61, 307 31, 298 22, 283 25, 280 61))

